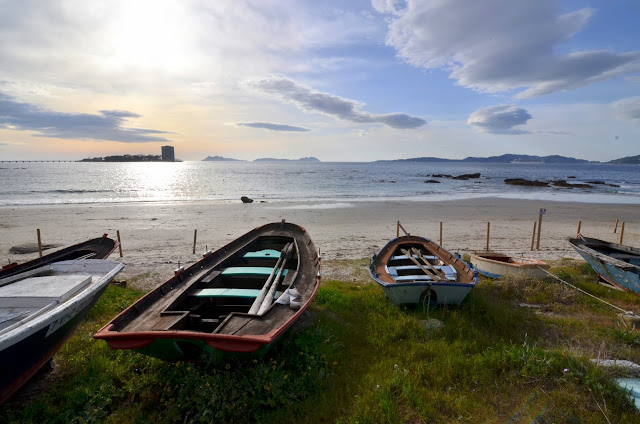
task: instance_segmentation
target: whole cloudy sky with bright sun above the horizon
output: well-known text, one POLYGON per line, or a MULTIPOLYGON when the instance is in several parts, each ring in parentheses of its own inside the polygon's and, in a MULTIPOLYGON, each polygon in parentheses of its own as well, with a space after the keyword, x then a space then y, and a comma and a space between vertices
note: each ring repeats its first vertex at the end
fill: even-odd
POLYGON ((637 0, 0 0, 0 160, 640 154, 637 0))

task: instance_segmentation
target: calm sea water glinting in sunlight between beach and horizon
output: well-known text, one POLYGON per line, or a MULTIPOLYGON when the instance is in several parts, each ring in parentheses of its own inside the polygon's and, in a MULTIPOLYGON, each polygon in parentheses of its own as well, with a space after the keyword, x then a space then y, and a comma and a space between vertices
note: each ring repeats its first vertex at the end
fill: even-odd
POLYGON ((508 197, 640 204, 640 167, 468 163, 0 163, 0 206, 132 202, 446 200, 508 197), (459 181, 431 174, 479 172, 459 181), (575 177, 575 178, 570 178, 575 177), (604 181, 593 189, 514 187, 505 178, 604 181))

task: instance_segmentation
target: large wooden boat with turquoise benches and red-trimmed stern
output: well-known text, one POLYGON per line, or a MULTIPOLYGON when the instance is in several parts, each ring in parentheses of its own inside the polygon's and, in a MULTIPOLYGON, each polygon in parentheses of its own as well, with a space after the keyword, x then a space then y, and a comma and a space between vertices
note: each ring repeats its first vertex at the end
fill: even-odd
POLYGON ((315 297, 320 256, 295 224, 258 227, 176 275, 95 334, 164 360, 259 357, 315 297))

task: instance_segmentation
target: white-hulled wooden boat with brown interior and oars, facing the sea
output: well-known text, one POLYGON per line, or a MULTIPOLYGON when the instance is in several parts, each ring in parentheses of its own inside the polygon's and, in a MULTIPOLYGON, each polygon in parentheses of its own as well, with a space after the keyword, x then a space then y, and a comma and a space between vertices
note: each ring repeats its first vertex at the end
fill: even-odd
POLYGON ((374 255, 371 277, 393 303, 459 304, 478 283, 477 274, 435 242, 401 236, 374 255))

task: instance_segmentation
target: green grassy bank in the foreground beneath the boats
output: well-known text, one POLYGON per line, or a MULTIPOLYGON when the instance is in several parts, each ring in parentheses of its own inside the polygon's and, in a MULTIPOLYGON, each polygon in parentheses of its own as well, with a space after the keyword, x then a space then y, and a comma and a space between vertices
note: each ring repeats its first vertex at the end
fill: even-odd
MULTIPOLYGON (((325 267, 351 277, 324 281, 304 322, 263 360, 244 364, 170 364, 91 339, 141 295, 109 287, 56 356, 57 369, 37 382, 44 390, 19 395, 0 421, 640 420, 611 371, 589 362, 640 363, 640 337, 617 324, 615 310, 561 283, 482 280, 462 305, 425 311, 388 302, 366 278, 364 260, 325 267), (427 318, 443 326, 425 328, 427 318)), ((584 264, 552 271, 640 311, 635 295, 598 286, 584 264)))

